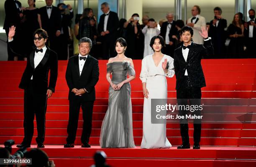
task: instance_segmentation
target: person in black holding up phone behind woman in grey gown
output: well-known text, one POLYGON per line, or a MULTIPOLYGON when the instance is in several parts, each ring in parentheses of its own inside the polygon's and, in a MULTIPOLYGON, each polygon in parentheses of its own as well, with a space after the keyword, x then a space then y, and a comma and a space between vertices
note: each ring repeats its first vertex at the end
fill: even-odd
POLYGON ((126 28, 126 40, 127 45, 129 46, 125 55, 128 55, 132 59, 139 59, 140 48, 138 35, 141 33, 141 28, 138 20, 140 20, 139 15, 134 13, 123 25, 123 27, 126 28))

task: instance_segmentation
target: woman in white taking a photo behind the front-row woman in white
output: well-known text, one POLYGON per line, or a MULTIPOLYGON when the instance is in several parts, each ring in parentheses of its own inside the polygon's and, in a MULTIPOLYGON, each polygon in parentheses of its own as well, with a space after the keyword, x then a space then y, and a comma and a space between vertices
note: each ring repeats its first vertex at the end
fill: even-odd
POLYGON ((149 46, 149 42, 152 37, 160 34, 160 30, 157 29, 157 22, 155 22, 154 19, 149 19, 148 24, 141 30, 141 32, 145 36, 143 57, 146 57, 147 55, 154 53, 152 48, 149 46))

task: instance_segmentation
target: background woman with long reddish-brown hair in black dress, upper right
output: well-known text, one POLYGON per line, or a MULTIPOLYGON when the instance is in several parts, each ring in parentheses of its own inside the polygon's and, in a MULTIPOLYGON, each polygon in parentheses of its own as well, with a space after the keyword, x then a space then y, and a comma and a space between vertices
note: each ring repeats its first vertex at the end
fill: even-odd
POLYGON ((232 24, 228 26, 228 35, 230 38, 228 57, 238 58, 243 56, 243 31, 243 22, 241 16, 237 13, 234 15, 232 24))

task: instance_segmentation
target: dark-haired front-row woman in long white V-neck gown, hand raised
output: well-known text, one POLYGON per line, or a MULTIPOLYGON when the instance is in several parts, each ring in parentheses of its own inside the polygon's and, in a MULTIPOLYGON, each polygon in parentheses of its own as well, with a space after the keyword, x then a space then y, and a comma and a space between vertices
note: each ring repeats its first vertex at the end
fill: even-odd
POLYGON ((153 55, 143 58, 140 79, 143 85, 143 138, 141 148, 169 148, 166 124, 151 123, 151 99, 167 99, 166 77, 174 76, 173 58, 161 53, 164 38, 154 36, 150 41, 153 55))

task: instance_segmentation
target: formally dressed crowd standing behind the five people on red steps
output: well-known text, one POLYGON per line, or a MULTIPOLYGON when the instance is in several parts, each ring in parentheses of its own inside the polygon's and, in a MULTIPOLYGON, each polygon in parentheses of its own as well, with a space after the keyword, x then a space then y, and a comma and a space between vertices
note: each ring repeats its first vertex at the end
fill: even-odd
POLYGON ((15 52, 8 47, 8 60, 27 60, 30 50, 34 47, 33 33, 42 28, 49 35, 47 45, 58 54, 59 60, 68 60, 69 57, 78 54, 78 40, 88 37, 92 40, 93 49, 90 55, 101 60, 107 60, 115 56, 115 40, 123 37, 128 46, 125 55, 132 59, 142 59, 152 54, 149 46, 150 39, 155 35, 161 35, 165 40, 163 53, 173 57, 175 48, 181 45, 179 31, 184 25, 193 28, 193 42, 203 44, 204 41, 199 32, 201 27, 208 27, 209 37, 212 38, 214 55, 208 58, 253 58, 253 43, 256 38, 255 10, 250 9, 248 14, 250 21, 243 20, 243 14, 237 13, 233 21, 228 25, 222 17, 220 7, 213 9, 214 19, 206 22, 200 15, 201 9, 195 5, 191 9, 192 17, 184 22, 174 20, 172 13, 166 14, 166 19, 158 23, 154 18, 144 15, 141 17, 134 13, 129 20, 121 18, 110 10, 107 2, 101 4, 103 14, 99 22, 91 8, 85 8, 82 14, 74 17, 71 5, 59 3, 53 6, 53 0, 45 0, 46 6, 36 8, 36 0, 28 0, 28 7, 22 7, 18 0, 5 1, 4 27, 8 35, 9 28, 16 27, 15 52), (72 27, 74 20, 74 27, 72 27), (142 23, 140 23, 142 20, 142 23), (28 45, 30 43, 30 45, 28 45), (26 44, 26 45, 25 45, 26 44))

